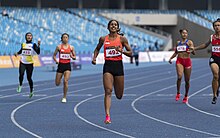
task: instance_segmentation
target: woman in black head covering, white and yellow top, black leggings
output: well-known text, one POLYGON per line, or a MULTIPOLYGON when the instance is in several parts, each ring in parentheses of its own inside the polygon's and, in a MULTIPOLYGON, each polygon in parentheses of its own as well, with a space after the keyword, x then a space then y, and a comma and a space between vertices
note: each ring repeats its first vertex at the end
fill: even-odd
POLYGON ((21 55, 20 65, 19 65, 19 85, 17 88, 17 92, 21 92, 22 83, 24 79, 24 72, 26 70, 27 73, 27 80, 30 86, 30 95, 31 98, 33 96, 33 80, 32 80, 32 73, 33 73, 33 54, 34 51, 39 55, 40 54, 40 40, 38 41, 38 45, 32 42, 33 35, 28 32, 25 35, 26 43, 21 44, 21 49, 15 53, 14 55, 21 55))

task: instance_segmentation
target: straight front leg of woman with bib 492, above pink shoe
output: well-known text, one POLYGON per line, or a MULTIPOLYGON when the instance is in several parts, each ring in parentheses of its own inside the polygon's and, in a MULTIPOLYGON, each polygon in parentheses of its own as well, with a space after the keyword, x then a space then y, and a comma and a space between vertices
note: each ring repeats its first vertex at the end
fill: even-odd
POLYGON ((110 116, 111 96, 114 78, 112 74, 106 72, 103 74, 103 85, 105 90, 104 106, 105 114, 110 116))

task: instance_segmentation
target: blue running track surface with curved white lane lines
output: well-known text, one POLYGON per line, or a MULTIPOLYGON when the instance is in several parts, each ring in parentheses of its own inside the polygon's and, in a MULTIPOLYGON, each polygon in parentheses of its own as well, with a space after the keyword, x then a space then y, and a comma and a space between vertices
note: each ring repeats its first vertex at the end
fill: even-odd
MULTIPOLYGON (((150 64, 150 63, 149 63, 150 64)), ((2 79, 2 78, 1 78, 2 79)), ((62 86, 39 81, 28 87, 0 87, 1 137, 220 137, 220 101, 211 104, 208 59, 193 60, 188 104, 175 101, 175 65, 125 70, 125 95, 112 97, 112 124, 105 125, 102 74, 72 77, 68 102, 62 86)), ((184 93, 184 82, 182 83, 184 93)), ((181 96, 181 99, 183 96, 181 96)))

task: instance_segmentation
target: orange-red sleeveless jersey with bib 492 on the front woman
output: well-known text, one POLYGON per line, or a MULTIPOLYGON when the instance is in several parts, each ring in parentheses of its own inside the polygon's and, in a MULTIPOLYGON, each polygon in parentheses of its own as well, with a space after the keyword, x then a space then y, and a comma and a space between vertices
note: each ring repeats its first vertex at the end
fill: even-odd
POLYGON ((104 57, 105 60, 118 61, 122 60, 122 53, 115 50, 116 47, 123 49, 120 35, 117 35, 115 40, 109 40, 109 35, 105 37, 104 41, 104 57))

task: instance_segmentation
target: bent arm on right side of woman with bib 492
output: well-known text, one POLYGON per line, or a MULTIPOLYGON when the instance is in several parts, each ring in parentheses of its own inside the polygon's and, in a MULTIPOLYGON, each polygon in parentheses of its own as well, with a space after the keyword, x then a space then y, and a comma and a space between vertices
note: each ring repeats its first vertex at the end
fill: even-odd
POLYGON ((117 48, 116 50, 121 52, 122 54, 131 57, 132 56, 132 49, 130 45, 128 44, 128 40, 124 36, 120 36, 121 44, 125 47, 126 51, 123 51, 123 49, 117 48))

